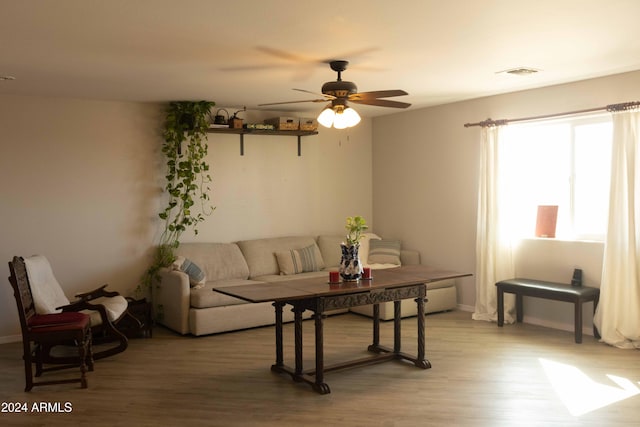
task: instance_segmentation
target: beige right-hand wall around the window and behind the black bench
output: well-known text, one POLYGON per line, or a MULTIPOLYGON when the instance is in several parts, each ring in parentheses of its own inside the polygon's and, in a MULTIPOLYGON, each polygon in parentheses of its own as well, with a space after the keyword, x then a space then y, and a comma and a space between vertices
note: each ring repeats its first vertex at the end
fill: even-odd
MULTIPOLYGON (((420 250, 423 263, 473 273, 479 128, 464 128, 464 123, 560 113, 639 99, 640 72, 633 72, 376 118, 376 230, 420 250)), ((599 286, 601 257, 602 244, 598 243, 531 240, 516 256, 516 274, 569 282, 573 268, 580 266, 585 284, 599 286)), ((473 310, 474 279, 461 279, 457 284, 458 303, 473 310)), ((591 305, 585 310, 590 311, 591 305)), ((572 330, 573 307, 525 299, 525 321, 572 330)), ((585 321, 585 326, 590 325, 585 321)))

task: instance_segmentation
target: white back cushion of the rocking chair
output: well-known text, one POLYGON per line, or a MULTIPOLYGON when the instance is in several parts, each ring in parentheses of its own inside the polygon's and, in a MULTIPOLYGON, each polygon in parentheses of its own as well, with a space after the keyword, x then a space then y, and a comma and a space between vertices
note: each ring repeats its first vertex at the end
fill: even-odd
POLYGON ((34 255, 24 260, 31 285, 31 295, 38 314, 60 313, 58 307, 69 304, 69 299, 56 280, 47 258, 34 255))

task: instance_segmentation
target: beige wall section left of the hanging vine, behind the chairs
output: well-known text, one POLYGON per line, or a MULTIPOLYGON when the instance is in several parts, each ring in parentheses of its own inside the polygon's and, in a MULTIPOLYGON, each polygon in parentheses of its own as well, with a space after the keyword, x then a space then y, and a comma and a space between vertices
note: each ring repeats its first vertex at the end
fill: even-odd
POLYGON ((19 333, 14 255, 46 255, 67 296, 135 287, 154 233, 159 120, 153 105, 0 97, 0 340, 19 333))

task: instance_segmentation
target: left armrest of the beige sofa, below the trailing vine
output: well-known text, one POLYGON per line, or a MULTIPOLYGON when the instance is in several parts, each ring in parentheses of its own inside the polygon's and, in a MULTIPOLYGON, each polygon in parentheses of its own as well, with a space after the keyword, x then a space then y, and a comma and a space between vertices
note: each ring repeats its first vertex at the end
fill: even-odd
POLYGON ((158 323, 176 332, 188 334, 191 287, 189 276, 178 270, 162 269, 151 290, 153 308, 158 323))

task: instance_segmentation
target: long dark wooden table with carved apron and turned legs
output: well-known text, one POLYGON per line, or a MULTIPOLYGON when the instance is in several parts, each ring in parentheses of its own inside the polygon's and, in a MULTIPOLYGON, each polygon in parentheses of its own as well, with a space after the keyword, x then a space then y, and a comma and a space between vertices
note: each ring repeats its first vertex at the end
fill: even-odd
POLYGON ((387 270, 375 270, 372 280, 358 282, 327 283, 326 277, 294 279, 278 283, 265 283, 249 286, 230 286, 214 288, 214 291, 243 299, 252 303, 273 301, 276 316, 276 362, 271 370, 287 373, 294 381, 306 382, 320 394, 331 392, 324 382, 324 373, 338 369, 371 365, 388 360, 408 360, 422 369, 431 367, 425 358, 425 317, 424 302, 426 283, 470 276, 470 274, 437 270, 434 268, 411 265, 387 270), (418 350, 416 356, 401 351, 400 302, 413 298, 418 305, 418 350), (394 301, 394 342, 393 348, 380 345, 379 303, 394 301), (295 367, 284 364, 282 310, 292 305, 294 312, 295 367), (374 304, 373 343, 368 350, 375 355, 363 359, 324 366, 323 318, 326 311, 349 308, 358 305, 374 304), (315 369, 305 370, 302 363, 302 313, 313 311, 315 325, 315 369))

